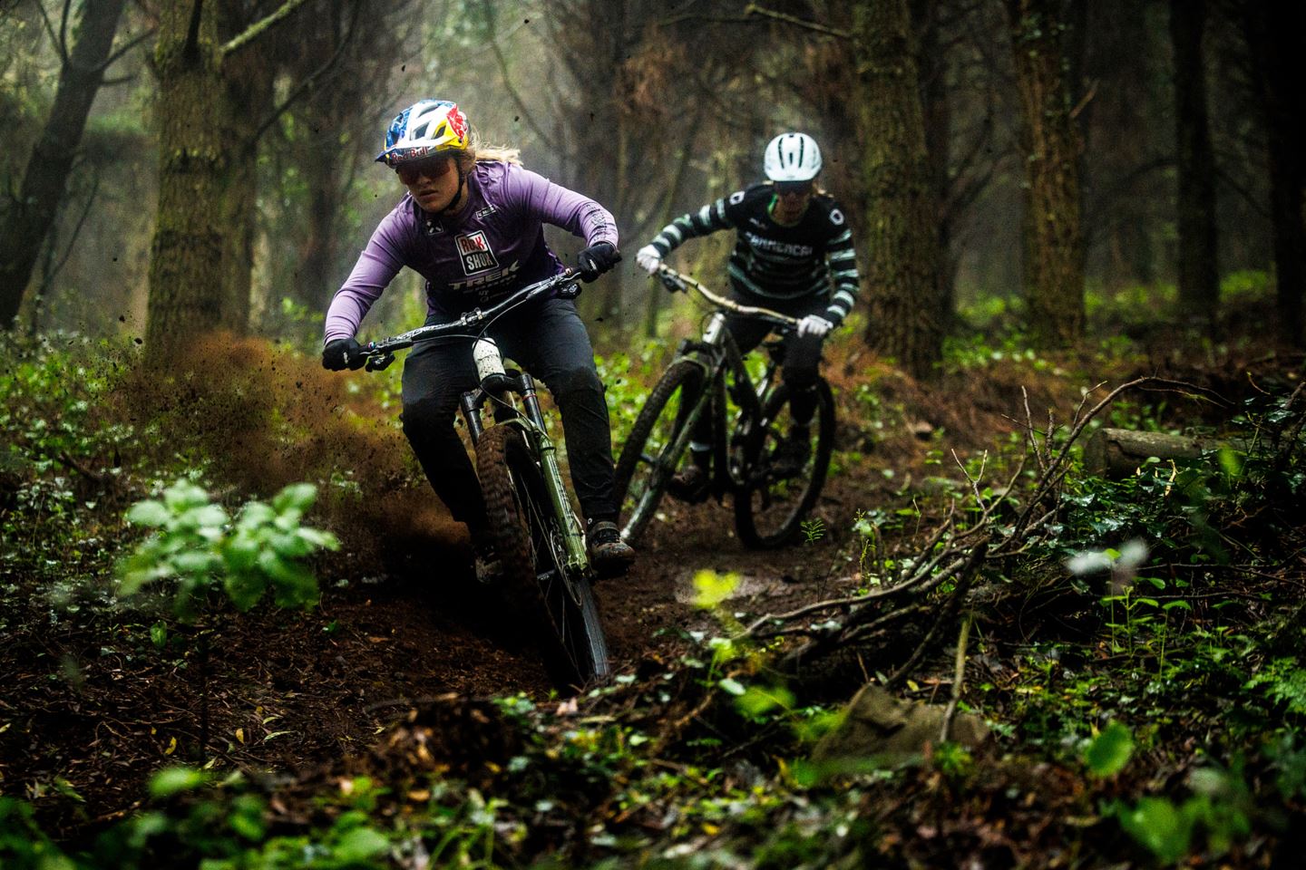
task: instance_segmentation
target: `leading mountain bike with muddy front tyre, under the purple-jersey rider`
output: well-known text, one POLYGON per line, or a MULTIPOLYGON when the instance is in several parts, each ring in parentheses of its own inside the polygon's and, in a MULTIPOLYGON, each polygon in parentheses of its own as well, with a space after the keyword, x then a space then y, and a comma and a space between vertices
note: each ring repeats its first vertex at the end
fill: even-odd
POLYGON ((479 383, 458 410, 475 447, 488 533, 499 558, 504 597, 525 609, 550 676, 560 687, 584 687, 611 676, 607 640, 594 603, 594 577, 580 518, 572 509, 549 437, 535 382, 504 368, 490 325, 518 305, 550 293, 580 293, 576 271, 521 288, 492 308, 477 308, 447 323, 422 326, 363 346, 368 370, 384 369, 394 352, 432 339, 473 342, 479 383), (492 421, 485 423, 490 406, 492 421))

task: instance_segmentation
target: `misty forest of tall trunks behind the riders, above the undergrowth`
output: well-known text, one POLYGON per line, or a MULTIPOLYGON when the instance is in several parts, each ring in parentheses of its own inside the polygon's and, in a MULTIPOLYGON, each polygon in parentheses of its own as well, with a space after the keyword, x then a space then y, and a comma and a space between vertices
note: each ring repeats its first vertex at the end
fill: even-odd
MULTIPOLYGON (((603 202, 627 249, 810 132, 852 215, 866 339, 918 376, 959 310, 1060 346, 1085 299, 1124 292, 1198 326, 1273 292, 1275 338, 1302 338, 1301 16, 1281 4, 5 7, 17 329, 311 339, 401 193, 371 164, 388 119, 438 97, 603 202)), ((585 297, 599 331, 666 330, 632 260, 585 297)))

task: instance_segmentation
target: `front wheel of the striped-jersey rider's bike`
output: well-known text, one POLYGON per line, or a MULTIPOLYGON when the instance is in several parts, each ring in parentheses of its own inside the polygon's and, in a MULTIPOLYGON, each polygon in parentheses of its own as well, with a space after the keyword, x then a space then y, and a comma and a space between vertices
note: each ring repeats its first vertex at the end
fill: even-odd
POLYGON ((679 360, 662 373, 616 460, 616 503, 622 511, 622 537, 635 541, 648 527, 688 453, 682 433, 703 391, 703 367, 679 360), (679 443, 678 443, 679 442, 679 443))

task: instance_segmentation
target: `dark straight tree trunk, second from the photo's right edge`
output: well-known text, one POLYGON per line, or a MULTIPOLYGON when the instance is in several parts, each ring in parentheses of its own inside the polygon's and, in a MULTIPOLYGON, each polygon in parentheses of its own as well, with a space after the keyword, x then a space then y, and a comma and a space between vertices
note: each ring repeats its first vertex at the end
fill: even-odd
POLYGON ((1220 304, 1216 258, 1216 160, 1207 117, 1202 35, 1207 0, 1170 0, 1174 43, 1175 153, 1179 192, 1179 316, 1213 322, 1220 304))

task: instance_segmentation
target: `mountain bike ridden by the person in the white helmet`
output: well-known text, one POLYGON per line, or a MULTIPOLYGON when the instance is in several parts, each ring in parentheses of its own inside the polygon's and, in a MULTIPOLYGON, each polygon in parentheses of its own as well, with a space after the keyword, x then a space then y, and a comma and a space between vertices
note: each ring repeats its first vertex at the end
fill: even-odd
POLYGON ((789 433, 791 391, 777 378, 784 335, 798 320, 718 296, 693 278, 658 266, 657 278, 673 292, 693 290, 716 310, 703 337, 686 339, 662 373, 631 428, 616 462, 616 498, 622 537, 633 541, 648 527, 671 477, 686 460, 695 423, 712 421, 709 492, 734 496, 735 532, 754 549, 781 547, 798 533, 825 485, 835 442, 835 397, 816 383, 811 443, 801 468, 776 462, 776 447, 789 433), (772 323, 780 338, 763 343, 767 363, 756 383, 726 329, 726 312, 772 323))

